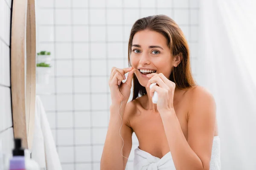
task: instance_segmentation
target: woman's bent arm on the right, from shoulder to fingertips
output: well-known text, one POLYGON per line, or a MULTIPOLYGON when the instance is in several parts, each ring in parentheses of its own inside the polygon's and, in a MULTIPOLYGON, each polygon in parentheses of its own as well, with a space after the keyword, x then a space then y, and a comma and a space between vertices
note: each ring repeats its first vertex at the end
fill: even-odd
POLYGON ((157 110, 162 118, 176 169, 209 170, 215 132, 216 106, 213 96, 200 86, 192 90, 186 141, 173 108, 175 84, 163 74, 155 74, 148 81, 148 86, 154 82, 159 87, 151 88, 151 95, 154 91, 158 93, 157 110))

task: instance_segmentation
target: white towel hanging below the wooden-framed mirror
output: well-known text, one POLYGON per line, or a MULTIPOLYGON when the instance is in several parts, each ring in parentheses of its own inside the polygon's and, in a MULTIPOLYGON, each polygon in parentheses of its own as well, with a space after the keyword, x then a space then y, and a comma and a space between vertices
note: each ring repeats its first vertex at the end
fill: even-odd
POLYGON ((35 131, 32 145, 32 159, 38 162, 40 168, 62 170, 50 125, 39 96, 36 96, 35 102, 35 131))

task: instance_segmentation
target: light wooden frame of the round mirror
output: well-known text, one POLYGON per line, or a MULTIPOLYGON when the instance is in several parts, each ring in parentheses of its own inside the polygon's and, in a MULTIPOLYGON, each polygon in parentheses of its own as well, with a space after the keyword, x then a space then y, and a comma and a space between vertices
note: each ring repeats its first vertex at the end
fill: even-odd
POLYGON ((35 36, 35 0, 13 0, 11 29, 12 120, 14 137, 21 138, 22 146, 27 149, 32 148, 35 124, 35 36))

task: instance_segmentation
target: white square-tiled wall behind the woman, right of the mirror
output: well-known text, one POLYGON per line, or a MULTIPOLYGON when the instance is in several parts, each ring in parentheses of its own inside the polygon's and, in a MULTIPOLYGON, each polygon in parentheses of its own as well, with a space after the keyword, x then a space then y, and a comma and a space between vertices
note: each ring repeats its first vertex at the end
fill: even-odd
MULTIPOLYGON (((113 66, 128 67, 132 24, 153 14, 172 17, 189 41, 196 78, 198 11, 198 0, 38 0, 37 51, 51 51, 53 59, 50 84, 40 96, 64 170, 99 170, 109 74, 113 66)), ((137 146, 134 135, 127 170, 137 146)))

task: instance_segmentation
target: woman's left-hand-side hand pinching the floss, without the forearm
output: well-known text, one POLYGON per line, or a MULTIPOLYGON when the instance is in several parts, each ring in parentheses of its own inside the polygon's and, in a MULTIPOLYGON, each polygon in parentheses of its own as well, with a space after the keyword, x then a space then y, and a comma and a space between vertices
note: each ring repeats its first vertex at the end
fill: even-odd
POLYGON ((111 91, 111 101, 112 104, 119 105, 122 102, 125 102, 125 104, 128 102, 128 99, 131 94, 131 81, 133 78, 135 69, 133 67, 130 68, 116 68, 113 67, 111 69, 111 75, 108 81, 108 85, 110 87, 111 91), (122 80, 125 79, 125 73, 128 73, 128 77, 125 83, 122 82, 122 80), (118 90, 118 85, 119 90, 118 90), (120 99, 121 98, 121 99, 120 99))

